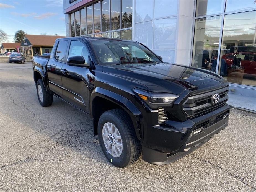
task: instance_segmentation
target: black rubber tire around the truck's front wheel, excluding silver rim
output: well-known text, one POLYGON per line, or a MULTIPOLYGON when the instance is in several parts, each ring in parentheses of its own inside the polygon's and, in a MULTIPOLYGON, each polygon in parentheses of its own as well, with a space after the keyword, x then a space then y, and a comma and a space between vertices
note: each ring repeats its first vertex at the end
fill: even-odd
POLYGON ((136 137, 134 126, 131 122, 130 116, 121 109, 113 109, 104 112, 99 119, 98 123, 98 137, 100 147, 110 163, 123 168, 136 162, 141 155, 141 144, 136 137), (112 123, 118 129, 123 141, 123 151, 120 157, 113 157, 106 150, 102 129, 105 123, 112 123))

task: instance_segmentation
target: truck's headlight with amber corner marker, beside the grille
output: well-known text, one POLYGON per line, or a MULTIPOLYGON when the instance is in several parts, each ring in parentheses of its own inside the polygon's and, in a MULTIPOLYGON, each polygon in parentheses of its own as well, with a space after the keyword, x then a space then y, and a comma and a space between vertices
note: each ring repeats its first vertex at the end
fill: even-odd
POLYGON ((135 88, 133 91, 144 101, 151 109, 157 109, 159 106, 172 107, 172 104, 178 95, 169 93, 149 92, 143 89, 135 88))

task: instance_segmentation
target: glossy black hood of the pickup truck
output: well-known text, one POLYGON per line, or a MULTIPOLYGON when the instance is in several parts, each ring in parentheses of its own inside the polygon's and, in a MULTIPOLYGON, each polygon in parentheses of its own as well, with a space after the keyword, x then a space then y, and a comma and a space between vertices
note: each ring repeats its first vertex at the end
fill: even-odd
POLYGON ((181 94, 186 89, 212 89, 227 83, 214 72, 171 63, 109 65, 102 70, 143 84, 153 92, 181 94))

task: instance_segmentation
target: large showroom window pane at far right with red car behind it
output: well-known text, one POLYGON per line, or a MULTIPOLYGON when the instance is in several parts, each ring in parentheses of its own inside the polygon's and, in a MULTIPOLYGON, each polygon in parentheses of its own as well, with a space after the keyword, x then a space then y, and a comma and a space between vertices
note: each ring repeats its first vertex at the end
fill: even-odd
POLYGON ((219 74, 231 83, 256 86, 255 15, 250 11, 224 17, 219 74))

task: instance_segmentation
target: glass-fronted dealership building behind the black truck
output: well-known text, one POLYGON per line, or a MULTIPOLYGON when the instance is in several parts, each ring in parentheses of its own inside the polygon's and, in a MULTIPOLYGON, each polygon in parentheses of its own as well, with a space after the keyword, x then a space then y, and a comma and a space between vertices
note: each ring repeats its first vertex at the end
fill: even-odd
POLYGON ((217 72, 229 103, 256 111, 254 0, 63 0, 63 9, 67 36, 139 41, 165 62, 217 72))

